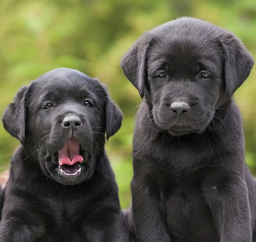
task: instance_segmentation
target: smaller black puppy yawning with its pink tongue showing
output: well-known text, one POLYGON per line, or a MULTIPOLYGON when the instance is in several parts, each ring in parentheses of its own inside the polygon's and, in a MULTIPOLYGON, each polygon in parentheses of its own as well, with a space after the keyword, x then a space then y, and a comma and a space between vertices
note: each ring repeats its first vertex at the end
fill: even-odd
POLYGON ((3 116, 22 145, 4 189, 0 241, 128 241, 104 149, 121 122, 106 87, 76 70, 20 88, 3 116))

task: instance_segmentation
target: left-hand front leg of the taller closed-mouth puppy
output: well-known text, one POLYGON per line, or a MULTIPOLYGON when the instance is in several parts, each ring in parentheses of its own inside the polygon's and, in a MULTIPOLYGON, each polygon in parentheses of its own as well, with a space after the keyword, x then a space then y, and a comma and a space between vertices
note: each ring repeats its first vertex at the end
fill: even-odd
POLYGON ((132 180, 132 212, 138 242, 170 242, 164 219, 147 184, 132 180))

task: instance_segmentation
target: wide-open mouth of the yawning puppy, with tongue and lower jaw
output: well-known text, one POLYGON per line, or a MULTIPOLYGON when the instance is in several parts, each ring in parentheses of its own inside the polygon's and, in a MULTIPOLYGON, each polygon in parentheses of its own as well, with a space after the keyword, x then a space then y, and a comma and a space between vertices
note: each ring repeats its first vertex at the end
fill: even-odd
POLYGON ((60 174, 63 176, 79 175, 82 167, 81 163, 84 160, 81 153, 79 140, 68 139, 64 147, 58 151, 60 174))

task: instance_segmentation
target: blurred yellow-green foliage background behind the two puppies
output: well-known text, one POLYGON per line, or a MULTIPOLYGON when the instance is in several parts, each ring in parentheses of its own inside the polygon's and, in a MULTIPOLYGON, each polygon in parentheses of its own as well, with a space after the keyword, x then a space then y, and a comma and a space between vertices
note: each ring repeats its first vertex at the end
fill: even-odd
MULTIPOLYGON (((182 16, 234 32, 256 57, 255 0, 0 0, 0 113, 20 86, 54 68, 98 77, 124 112, 122 128, 106 148, 127 208, 132 130, 141 100, 119 62, 145 31, 182 16)), ((235 99, 244 119, 246 162, 256 174, 256 68, 235 99)), ((8 169, 18 145, 0 124, 0 171, 8 169)))

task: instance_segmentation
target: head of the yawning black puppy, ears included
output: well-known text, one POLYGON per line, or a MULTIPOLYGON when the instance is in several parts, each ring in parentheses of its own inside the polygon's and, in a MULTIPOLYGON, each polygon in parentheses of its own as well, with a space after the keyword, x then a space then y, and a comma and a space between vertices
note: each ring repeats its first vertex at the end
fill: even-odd
POLYGON ((97 79, 68 68, 45 73, 21 87, 3 115, 4 128, 63 185, 92 178, 122 112, 97 79))

